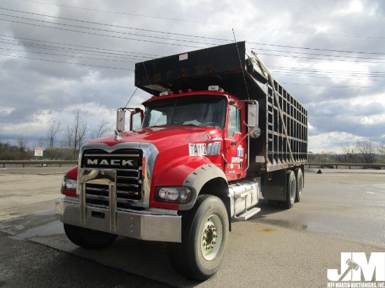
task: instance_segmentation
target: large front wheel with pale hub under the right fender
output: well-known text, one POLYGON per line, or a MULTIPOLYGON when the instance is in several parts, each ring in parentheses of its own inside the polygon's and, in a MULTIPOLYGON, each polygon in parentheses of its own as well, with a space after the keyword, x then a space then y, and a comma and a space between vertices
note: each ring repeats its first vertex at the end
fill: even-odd
POLYGON ((229 220, 216 196, 198 196, 192 210, 182 216, 182 243, 169 243, 173 268, 188 278, 207 280, 218 271, 228 244, 229 220))

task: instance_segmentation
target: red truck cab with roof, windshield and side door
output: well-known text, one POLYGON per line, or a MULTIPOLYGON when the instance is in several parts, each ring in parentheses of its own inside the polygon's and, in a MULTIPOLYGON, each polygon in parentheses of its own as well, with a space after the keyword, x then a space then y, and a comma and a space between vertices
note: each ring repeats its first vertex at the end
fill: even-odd
POLYGON ((142 128, 182 127, 190 129, 192 134, 200 131, 202 140, 188 143, 186 161, 190 157, 208 157, 224 171, 228 181, 244 178, 246 139, 241 138, 247 130, 243 124, 246 123, 245 105, 235 96, 212 89, 149 99, 143 103, 146 112, 142 128))

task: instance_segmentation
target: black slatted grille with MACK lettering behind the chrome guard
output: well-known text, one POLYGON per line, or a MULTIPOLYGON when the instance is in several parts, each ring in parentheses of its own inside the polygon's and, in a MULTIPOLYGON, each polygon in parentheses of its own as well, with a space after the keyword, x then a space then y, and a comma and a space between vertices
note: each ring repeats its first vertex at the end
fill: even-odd
MULTIPOLYGON (((118 207, 130 208, 134 201, 141 200, 142 191, 141 150, 85 150, 81 167, 87 169, 116 170, 116 203, 118 207)), ((86 203, 109 206, 109 186, 85 184, 86 203)))

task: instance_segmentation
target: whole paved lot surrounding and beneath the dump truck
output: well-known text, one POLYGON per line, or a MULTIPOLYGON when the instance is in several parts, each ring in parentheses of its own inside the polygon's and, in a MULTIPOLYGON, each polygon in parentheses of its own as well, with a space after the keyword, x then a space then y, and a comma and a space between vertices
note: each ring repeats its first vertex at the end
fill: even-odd
POLYGON ((220 271, 188 280, 170 266, 165 243, 73 245, 55 218, 66 170, 0 171, 0 287, 327 287, 341 252, 385 252, 384 175, 307 171, 300 203, 285 210, 261 199, 260 213, 232 222, 220 271))

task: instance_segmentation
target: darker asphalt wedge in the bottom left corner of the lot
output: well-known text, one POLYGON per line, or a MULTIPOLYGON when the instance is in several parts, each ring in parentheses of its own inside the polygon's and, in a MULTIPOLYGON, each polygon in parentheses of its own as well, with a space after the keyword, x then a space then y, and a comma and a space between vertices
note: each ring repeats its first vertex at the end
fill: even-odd
POLYGON ((0 287, 172 287, 0 232, 0 287))

